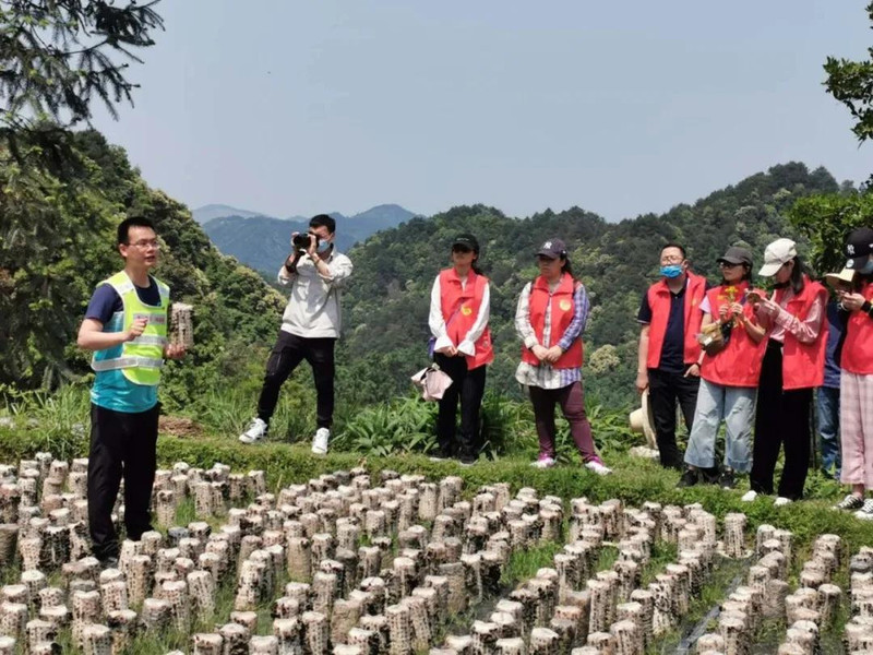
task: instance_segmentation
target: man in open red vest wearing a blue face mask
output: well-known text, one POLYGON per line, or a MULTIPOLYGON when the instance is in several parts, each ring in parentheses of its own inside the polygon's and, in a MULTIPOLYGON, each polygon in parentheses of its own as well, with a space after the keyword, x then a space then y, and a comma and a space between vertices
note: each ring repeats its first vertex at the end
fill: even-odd
POLYGON ((648 389, 661 466, 682 468, 675 444, 675 404, 691 431, 703 350, 697 342, 703 312, 701 301, 709 286, 689 271, 685 249, 668 243, 661 249, 661 279, 643 296, 637 321, 639 356, 636 390, 648 389))

